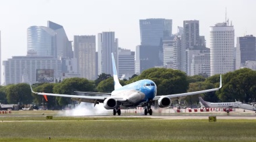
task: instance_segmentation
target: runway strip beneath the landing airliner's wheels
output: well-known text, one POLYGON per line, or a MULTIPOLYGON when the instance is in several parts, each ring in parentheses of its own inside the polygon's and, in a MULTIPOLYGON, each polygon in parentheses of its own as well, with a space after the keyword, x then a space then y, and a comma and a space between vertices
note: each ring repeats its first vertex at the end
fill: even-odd
MULTIPOLYGON (((236 109, 233 112, 227 114, 224 111, 210 111, 210 112, 188 112, 185 109, 181 109, 181 113, 175 113, 174 109, 162 109, 162 111, 154 110, 153 115, 143 115, 143 110, 122 110, 121 116, 112 115, 112 111, 104 111, 101 113, 86 113, 86 112, 77 112, 72 113, 73 111, 13 111, 11 114, 1 114, 0 121, 11 118, 11 117, 20 117, 20 118, 44 118, 46 116, 56 117, 88 117, 88 118, 150 118, 150 119, 209 119, 209 117, 216 117, 216 119, 256 119, 254 111, 244 111, 243 109, 236 109), (78 114, 78 115, 77 115, 78 114), (5 117, 5 119, 1 119, 5 117)), ((11 119, 10 119, 11 120, 11 119)), ((23 119, 24 120, 24 119, 23 119)), ((29 119, 28 119, 29 120, 29 119)))

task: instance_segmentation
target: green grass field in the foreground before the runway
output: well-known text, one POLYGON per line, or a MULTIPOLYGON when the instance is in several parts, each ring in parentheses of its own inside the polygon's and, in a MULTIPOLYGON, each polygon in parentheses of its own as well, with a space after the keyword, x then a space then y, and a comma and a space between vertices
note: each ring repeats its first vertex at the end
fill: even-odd
POLYGON ((256 141, 256 120, 216 123, 146 117, 43 120, 45 116, 0 117, 0 141, 256 141))

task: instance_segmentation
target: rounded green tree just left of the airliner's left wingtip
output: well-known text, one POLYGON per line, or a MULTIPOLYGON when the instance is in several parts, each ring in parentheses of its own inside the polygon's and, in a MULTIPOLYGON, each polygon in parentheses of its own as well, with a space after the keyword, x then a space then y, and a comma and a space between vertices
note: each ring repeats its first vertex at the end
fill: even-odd
POLYGON ((22 102, 23 104, 30 104, 33 100, 30 85, 26 83, 15 85, 12 84, 7 86, 6 95, 7 101, 10 104, 18 104, 18 102, 22 102))

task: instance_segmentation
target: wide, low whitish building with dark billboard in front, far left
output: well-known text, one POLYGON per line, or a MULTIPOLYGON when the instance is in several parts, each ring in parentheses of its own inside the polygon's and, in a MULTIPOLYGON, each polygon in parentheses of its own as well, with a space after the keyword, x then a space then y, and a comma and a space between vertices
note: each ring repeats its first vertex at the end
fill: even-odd
POLYGON ((55 82, 55 78, 60 78, 62 75, 61 60, 51 56, 13 56, 3 61, 3 66, 5 85, 21 82, 36 83, 38 82, 37 70, 53 70, 53 76, 46 78, 46 81, 55 82))

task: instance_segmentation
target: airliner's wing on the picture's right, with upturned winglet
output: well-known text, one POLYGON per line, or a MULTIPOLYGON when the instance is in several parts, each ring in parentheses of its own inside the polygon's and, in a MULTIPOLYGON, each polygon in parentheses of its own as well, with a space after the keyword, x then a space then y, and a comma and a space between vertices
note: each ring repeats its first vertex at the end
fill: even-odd
MULTIPOLYGON (((181 93, 181 94, 167 94, 167 95, 162 95, 162 96, 167 96, 169 98, 181 98, 184 96, 190 96, 193 94, 202 94, 205 92, 212 92, 212 91, 216 91, 216 90, 220 90, 220 88, 222 88, 222 76, 220 75, 220 87, 219 88, 212 88, 212 89, 208 89, 208 90, 199 90, 199 91, 195 91, 195 92, 185 92, 185 93, 181 93)), ((153 100, 158 100, 161 96, 155 96, 153 100)))

